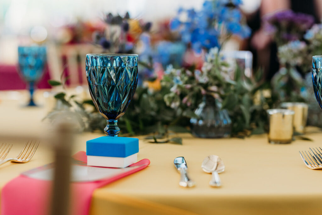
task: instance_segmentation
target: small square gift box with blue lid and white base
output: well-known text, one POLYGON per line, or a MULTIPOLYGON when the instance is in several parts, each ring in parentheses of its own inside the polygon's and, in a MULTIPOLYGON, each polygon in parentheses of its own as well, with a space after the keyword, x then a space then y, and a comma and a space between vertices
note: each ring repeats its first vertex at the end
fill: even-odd
POLYGON ((87 165, 124 168, 137 162, 138 151, 137 138, 95 138, 86 142, 87 165))

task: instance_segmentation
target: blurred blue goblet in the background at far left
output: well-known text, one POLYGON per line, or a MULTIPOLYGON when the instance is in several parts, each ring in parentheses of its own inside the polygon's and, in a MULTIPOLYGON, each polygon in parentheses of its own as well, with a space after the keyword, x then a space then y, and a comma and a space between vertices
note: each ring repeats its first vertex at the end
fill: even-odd
POLYGON ((18 47, 19 72, 24 81, 29 85, 30 101, 27 106, 36 106, 33 101, 33 92, 35 84, 43 76, 46 59, 45 46, 18 47))

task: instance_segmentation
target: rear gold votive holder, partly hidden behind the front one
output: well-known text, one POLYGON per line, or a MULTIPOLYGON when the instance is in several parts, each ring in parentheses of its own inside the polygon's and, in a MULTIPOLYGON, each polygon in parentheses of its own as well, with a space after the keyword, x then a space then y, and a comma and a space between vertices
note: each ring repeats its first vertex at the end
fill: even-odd
POLYGON ((293 127, 294 132, 304 134, 305 126, 308 119, 308 104, 303 102, 284 102, 281 108, 294 111, 293 127))

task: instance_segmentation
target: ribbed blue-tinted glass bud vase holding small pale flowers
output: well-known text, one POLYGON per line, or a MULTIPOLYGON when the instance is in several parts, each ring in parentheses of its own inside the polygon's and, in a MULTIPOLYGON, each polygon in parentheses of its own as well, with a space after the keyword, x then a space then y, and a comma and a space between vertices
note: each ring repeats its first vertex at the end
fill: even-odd
POLYGON ((194 111, 198 116, 191 118, 191 132, 201 138, 223 138, 231 134, 232 121, 227 110, 211 95, 204 95, 203 101, 194 111))

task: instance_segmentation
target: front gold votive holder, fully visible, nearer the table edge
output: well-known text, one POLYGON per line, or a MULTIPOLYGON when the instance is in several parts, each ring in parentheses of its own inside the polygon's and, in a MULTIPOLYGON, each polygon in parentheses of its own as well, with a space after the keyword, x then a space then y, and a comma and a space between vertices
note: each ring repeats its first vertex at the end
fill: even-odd
POLYGON ((294 111, 289 109, 267 110, 269 120, 268 142, 291 143, 293 139, 294 111))

